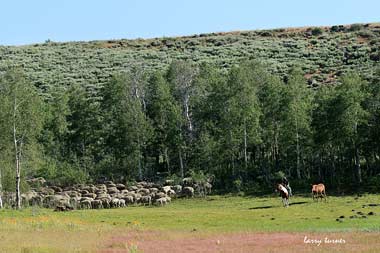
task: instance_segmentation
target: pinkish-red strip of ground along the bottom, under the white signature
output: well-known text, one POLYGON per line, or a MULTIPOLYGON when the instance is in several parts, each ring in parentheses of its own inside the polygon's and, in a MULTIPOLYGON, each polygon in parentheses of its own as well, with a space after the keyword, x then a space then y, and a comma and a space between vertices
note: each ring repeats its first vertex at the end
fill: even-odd
POLYGON ((110 238, 100 252, 380 252, 380 233, 143 231, 110 238))

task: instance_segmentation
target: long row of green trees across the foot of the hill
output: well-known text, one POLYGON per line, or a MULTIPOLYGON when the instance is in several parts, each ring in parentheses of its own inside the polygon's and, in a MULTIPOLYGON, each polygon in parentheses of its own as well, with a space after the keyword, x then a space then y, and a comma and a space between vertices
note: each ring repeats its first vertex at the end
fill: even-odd
POLYGON ((296 188, 379 190, 380 72, 312 89, 298 69, 280 78, 255 61, 226 74, 177 61, 114 75, 97 96, 75 85, 49 94, 18 70, 1 76, 2 190, 14 191, 15 177, 22 186, 190 174, 225 191, 271 189, 283 175, 296 188))

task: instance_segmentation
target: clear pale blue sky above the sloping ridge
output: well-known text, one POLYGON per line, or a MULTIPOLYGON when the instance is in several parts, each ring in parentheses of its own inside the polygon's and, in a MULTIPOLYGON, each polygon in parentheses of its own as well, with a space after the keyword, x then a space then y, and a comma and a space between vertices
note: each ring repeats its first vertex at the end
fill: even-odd
POLYGON ((0 0, 0 45, 380 22, 379 0, 0 0))

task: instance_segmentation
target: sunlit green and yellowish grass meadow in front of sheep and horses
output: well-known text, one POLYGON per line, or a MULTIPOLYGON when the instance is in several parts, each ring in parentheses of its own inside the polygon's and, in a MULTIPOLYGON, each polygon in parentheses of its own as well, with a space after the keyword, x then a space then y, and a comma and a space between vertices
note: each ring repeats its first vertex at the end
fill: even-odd
POLYGON ((94 252, 115 235, 146 231, 200 236, 251 232, 377 234, 380 196, 330 196, 327 202, 297 196, 289 208, 282 207, 280 198, 273 196, 209 196, 177 199, 165 207, 63 213, 37 208, 0 211, 1 252, 94 252))

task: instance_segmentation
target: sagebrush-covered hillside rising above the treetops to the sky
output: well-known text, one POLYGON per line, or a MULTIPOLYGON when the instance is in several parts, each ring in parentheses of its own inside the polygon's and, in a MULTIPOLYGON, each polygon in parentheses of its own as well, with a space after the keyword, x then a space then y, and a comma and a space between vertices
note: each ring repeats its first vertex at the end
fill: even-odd
POLYGON ((260 59, 280 75, 299 65, 313 86, 334 83, 337 76, 350 69, 369 76, 380 61, 380 24, 0 46, 0 71, 20 66, 45 92, 54 85, 71 84, 96 92, 112 73, 134 65, 164 69, 178 59, 228 69, 245 58, 260 59))

